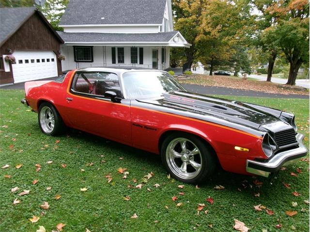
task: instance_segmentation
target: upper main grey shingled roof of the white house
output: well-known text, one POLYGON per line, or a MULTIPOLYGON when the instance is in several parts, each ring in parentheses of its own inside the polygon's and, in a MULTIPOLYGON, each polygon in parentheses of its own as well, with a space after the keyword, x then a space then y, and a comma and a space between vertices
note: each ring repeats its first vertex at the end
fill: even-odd
POLYGON ((70 0, 59 25, 161 24, 166 1, 70 0))

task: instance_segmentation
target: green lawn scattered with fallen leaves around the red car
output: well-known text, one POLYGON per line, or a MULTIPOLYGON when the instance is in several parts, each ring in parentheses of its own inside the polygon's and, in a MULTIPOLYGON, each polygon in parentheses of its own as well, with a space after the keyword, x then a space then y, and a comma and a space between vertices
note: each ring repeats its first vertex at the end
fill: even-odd
MULTIPOLYGON (((255 187, 255 178, 251 176, 219 170, 199 189, 187 184, 181 189, 178 185, 183 183, 167 178, 159 156, 79 131, 69 131, 60 137, 44 135, 39 130, 37 115, 20 104, 23 95, 21 90, 0 90, 0 166, 10 165, 0 169, 1 232, 35 232, 39 226, 50 232, 56 230, 59 223, 66 224, 64 232, 85 232, 86 228, 91 232, 195 229, 226 232, 233 231, 234 218, 243 221, 251 232, 309 231, 309 205, 304 203, 309 200, 309 163, 306 161, 280 171, 273 185, 259 177, 263 181, 261 188, 255 187), (53 162, 48 164, 49 160, 53 162), (23 166, 16 169, 17 164, 23 166), (40 171, 36 172, 35 164, 41 165, 40 171), (126 179, 118 173, 119 167, 127 168, 126 179), (142 183, 143 176, 151 172, 154 176, 141 189, 128 188, 128 185, 135 187, 142 183), (292 176, 291 172, 298 176, 292 176), (112 176, 110 183, 105 177, 107 174, 112 176), (33 185, 35 179, 38 183, 33 185), (159 188, 154 187, 156 183, 159 188), (283 183, 290 184, 291 188, 285 188, 283 183), (214 189, 217 185, 225 189, 214 189), (19 190, 12 193, 14 187, 19 190), (47 191, 47 187, 51 190, 47 191), (80 190, 85 187, 87 191, 80 190), (18 196, 23 190, 30 193, 18 196), (300 196, 294 196, 294 191, 300 196), (259 197, 254 195, 257 193, 259 197), (55 200, 56 195, 61 198, 55 200), (129 201, 124 200, 126 196, 130 197, 129 201), (172 201, 173 196, 177 196, 176 201, 172 201), (209 196, 214 204, 206 202, 209 196), (16 198, 21 203, 14 205, 16 198), (49 209, 40 208, 44 201, 50 205, 49 209), (292 202, 298 205, 293 207, 292 202), (183 205, 177 207, 177 203, 183 205), (198 203, 205 203, 199 215, 198 203), (255 211, 253 206, 258 204, 274 214, 255 211), (208 214, 205 210, 209 210, 208 214), (289 217, 286 210, 295 210, 297 215, 289 217), (138 218, 130 218, 134 213, 138 218), (31 223, 32 216, 40 217, 39 221, 31 223), (280 230, 276 229, 277 224, 282 224, 280 230)), ((227 98, 293 112, 309 146, 309 100, 227 98)))

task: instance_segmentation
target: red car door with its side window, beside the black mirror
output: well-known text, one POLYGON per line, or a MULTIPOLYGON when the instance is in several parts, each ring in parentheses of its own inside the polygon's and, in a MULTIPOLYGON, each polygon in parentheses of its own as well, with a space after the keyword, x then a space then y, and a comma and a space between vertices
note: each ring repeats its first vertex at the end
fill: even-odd
POLYGON ((106 91, 122 97, 117 74, 77 72, 66 93, 66 117, 73 128, 129 145, 130 102, 112 102, 106 91))

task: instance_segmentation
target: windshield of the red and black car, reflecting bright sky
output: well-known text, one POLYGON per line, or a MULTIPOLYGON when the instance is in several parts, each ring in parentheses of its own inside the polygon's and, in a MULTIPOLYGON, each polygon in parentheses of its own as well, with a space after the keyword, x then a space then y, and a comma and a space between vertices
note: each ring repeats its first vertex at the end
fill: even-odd
POLYGON ((165 92, 186 91, 168 73, 139 71, 123 74, 126 98, 160 97, 165 92))

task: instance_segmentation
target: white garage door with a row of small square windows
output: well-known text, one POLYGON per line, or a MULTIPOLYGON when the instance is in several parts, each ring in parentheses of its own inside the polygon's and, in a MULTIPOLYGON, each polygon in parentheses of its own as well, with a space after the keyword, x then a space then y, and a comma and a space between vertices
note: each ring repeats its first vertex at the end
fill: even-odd
POLYGON ((52 51, 16 51, 12 65, 14 83, 57 76, 56 55, 52 51))

